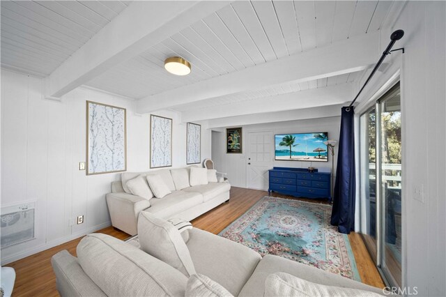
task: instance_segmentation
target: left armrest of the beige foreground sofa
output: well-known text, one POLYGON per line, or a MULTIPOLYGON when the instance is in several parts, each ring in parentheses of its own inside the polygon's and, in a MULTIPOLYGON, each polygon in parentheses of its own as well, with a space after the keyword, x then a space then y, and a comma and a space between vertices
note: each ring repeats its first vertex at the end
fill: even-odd
POLYGON ((56 275, 57 291, 61 296, 107 296, 67 250, 55 254, 51 264, 56 275))

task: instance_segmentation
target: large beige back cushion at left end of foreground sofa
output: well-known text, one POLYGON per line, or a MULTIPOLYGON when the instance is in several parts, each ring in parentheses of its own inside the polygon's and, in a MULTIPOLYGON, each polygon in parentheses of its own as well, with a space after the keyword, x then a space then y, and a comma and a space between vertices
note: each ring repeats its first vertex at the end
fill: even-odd
POLYGON ((77 257, 107 296, 184 296, 183 273, 118 238, 89 234, 77 245, 77 257))

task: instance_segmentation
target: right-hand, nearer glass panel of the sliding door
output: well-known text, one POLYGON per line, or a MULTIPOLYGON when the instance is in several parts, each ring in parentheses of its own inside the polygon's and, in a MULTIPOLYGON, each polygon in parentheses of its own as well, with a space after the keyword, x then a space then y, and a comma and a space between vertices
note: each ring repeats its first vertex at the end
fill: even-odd
POLYGON ((379 102, 382 268, 401 287, 401 98, 399 84, 379 102))

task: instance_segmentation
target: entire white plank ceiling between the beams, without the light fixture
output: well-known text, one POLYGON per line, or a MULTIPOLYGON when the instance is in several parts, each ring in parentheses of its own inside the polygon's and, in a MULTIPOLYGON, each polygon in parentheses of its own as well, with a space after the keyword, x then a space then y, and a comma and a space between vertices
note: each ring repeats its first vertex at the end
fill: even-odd
MULTIPOLYGON (((49 75, 111 22, 131 1, 1 1, 1 66, 49 75)), ((147 5, 151 5, 147 1, 147 5)), ((393 1, 235 1, 142 54, 107 70, 87 86, 144 98, 381 29, 393 1), (185 77, 164 59, 192 63, 185 77)), ((286 82, 261 90, 175 107, 199 107, 352 82, 360 73, 286 82)))

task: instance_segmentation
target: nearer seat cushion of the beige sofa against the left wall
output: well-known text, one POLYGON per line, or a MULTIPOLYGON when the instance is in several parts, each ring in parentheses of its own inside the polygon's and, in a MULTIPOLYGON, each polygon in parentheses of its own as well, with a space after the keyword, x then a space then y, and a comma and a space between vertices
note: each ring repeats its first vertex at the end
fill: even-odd
POLYGON ((145 211, 156 213, 160 218, 174 218, 176 213, 203 203, 203 195, 197 192, 174 191, 162 199, 151 199, 151 207, 145 211))

